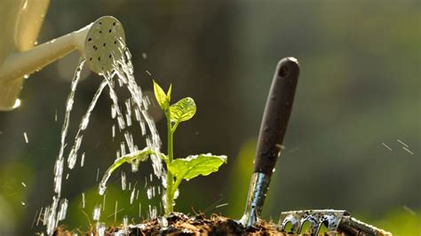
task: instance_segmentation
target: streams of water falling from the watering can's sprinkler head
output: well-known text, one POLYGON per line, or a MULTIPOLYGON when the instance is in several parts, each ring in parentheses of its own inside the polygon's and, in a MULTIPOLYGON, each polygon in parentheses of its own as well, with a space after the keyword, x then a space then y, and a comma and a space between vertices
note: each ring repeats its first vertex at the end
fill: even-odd
MULTIPOLYGON (((131 116, 134 114, 136 122, 139 122, 139 126, 141 129, 142 136, 146 139, 147 146, 155 151, 155 153, 160 152, 161 148, 161 140, 159 138, 158 132, 155 128, 155 122, 152 117, 148 114, 147 109, 150 106, 150 100, 143 96, 142 90, 139 85, 136 83, 136 80, 133 76, 133 66, 131 64, 131 53, 123 43, 123 41, 119 41, 122 43, 123 53, 121 53, 122 57, 119 59, 114 59, 113 63, 113 71, 111 73, 105 73, 101 75, 104 77, 102 82, 99 84, 98 90, 95 92, 91 104, 88 106, 86 113, 83 115, 82 121, 79 123, 79 128, 75 134, 75 139, 73 141, 73 145, 68 152, 68 159, 67 159, 67 167, 68 169, 74 169, 75 163, 77 161, 77 157, 79 155, 79 150, 83 141, 83 131, 89 125, 91 113, 99 100, 100 95, 102 94, 103 90, 107 87, 109 89, 109 97, 112 100, 111 106, 111 114, 112 118, 116 119, 118 125, 118 131, 123 133, 124 142, 121 143, 120 149, 117 150, 115 158, 118 159, 119 157, 123 156, 127 153, 126 147, 128 148, 129 153, 134 153, 139 150, 139 147, 134 144, 133 137, 131 135, 130 130, 127 128, 131 126, 132 120, 131 116), (125 110, 126 113, 123 114, 123 109, 119 106, 119 100, 117 93, 115 91, 115 86, 118 84, 120 87, 125 87, 129 90, 131 94, 131 98, 125 100, 125 110)), ((114 55, 113 55, 114 56, 114 55)), ((77 84, 79 83, 81 72, 83 69, 85 59, 80 59, 79 64, 76 67, 75 74, 71 83, 70 92, 68 94, 68 99, 66 103, 66 113, 64 117, 64 122, 61 129, 61 136, 60 136, 60 152, 57 156, 57 160, 54 166, 54 195, 52 196, 52 204, 47 206, 44 209, 44 225, 46 225, 46 231, 49 235, 52 235, 55 228, 59 225, 60 221, 63 221, 66 218, 66 213, 68 209, 68 200, 66 198, 62 198, 61 196, 61 189, 62 189, 62 178, 63 178, 63 171, 65 168, 65 149, 68 146, 67 137, 68 137, 68 127, 70 123, 70 114, 73 108, 73 104, 75 102, 75 91, 77 88, 77 84)), ((113 138, 115 137, 115 126, 113 126, 113 138)), ((82 154, 81 157, 83 160, 81 161, 81 166, 83 166, 83 161, 85 158, 85 153, 82 154)), ((154 169, 155 177, 160 179, 162 183, 165 183, 165 170, 163 169, 163 164, 161 159, 156 155, 150 156, 152 160, 152 166, 154 169)), ((139 161, 133 161, 131 163, 132 171, 137 171, 139 166, 139 161)), ((107 173, 105 174, 107 176, 107 173)), ((107 181, 107 180, 105 180, 107 181)), ((147 181, 147 179, 146 179, 147 181)), ((150 176, 150 181, 152 181, 152 174, 150 176)), ((145 186, 147 183, 145 183, 145 186)), ((122 186, 123 188, 126 187, 125 183, 125 174, 124 177, 122 176, 122 186)), ((136 186, 132 187, 129 184, 129 190, 131 190, 131 203, 134 199, 135 188, 136 186)), ((155 196, 155 186, 150 189, 154 190, 155 196)), ((99 193, 102 195, 106 191, 105 183, 99 185, 99 193)), ((159 191, 159 193, 161 193, 159 191)), ((139 195, 139 187, 136 192, 136 198, 139 195)), ((149 198, 149 190, 147 190, 147 196, 149 198)), ((105 195, 104 195, 104 202, 103 207, 105 207, 105 195)), ((150 198, 149 198, 150 199, 150 198)), ((84 193, 83 193, 83 206, 84 206, 84 193)), ((141 206, 139 206, 140 208, 141 206)), ((115 202, 115 208, 117 208, 117 202, 115 202)), ((97 222, 97 232, 99 235, 102 235, 101 232, 105 231, 105 224, 99 222, 100 218, 100 211, 101 205, 97 205, 92 212, 92 218, 97 222)), ((41 215, 41 214, 40 214, 41 215)), ((149 206, 149 216, 155 217, 156 214, 156 207, 149 206)), ((125 217, 125 221, 123 224, 127 224, 127 218, 125 217)))

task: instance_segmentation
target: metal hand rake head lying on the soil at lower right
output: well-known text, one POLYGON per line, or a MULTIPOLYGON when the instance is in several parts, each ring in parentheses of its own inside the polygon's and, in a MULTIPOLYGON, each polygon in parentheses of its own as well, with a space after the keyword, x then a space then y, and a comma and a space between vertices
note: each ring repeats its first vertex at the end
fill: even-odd
MULTIPOLYGON (((392 235, 390 232, 377 229, 353 217, 346 210, 309 209, 286 211, 281 213, 278 230, 280 232, 301 234, 304 225, 307 232, 318 235, 325 226, 328 233, 346 233, 346 235, 392 235)), ((335 234, 333 234, 335 235, 335 234)))

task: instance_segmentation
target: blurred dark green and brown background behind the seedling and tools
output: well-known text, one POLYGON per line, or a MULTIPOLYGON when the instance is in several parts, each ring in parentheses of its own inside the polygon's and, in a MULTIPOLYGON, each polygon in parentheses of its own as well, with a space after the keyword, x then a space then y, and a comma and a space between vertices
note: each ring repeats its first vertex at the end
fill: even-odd
MULTIPOLYGON (((178 211, 242 216, 274 67, 293 56, 301 65, 298 91, 264 217, 277 221, 290 209, 347 209, 395 235, 421 235, 420 1, 52 1, 39 42, 102 15, 123 23, 144 91, 152 90, 148 70, 164 88, 173 84, 173 100, 195 98, 195 118, 176 133, 176 156, 228 156, 218 173, 181 185, 178 211)), ((77 60, 73 53, 31 75, 22 106, 0 114, 2 236, 44 231, 34 217, 52 202, 52 170, 77 60)), ((97 75, 86 71, 83 77, 68 142, 99 85, 97 75)), ((83 139, 85 165, 64 182, 70 205, 63 224, 70 229, 87 230, 92 209, 103 201, 97 169, 102 175, 114 161, 122 139, 111 138, 110 104, 104 93, 83 139)), ((165 146, 165 123, 152 109, 165 146)), ((124 170, 141 186, 139 200, 130 204, 116 173, 101 214, 108 225, 123 216, 139 223, 140 201, 147 217, 151 201, 143 185, 150 164, 138 173, 124 170)))

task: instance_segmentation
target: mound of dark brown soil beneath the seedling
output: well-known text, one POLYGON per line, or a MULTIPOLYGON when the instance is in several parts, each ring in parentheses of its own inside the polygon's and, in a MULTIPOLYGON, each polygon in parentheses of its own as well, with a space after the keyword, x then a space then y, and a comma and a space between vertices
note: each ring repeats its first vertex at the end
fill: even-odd
MULTIPOLYGON (((244 227, 235 220, 224 216, 212 215, 206 218, 203 214, 188 217, 182 213, 171 213, 167 226, 162 226, 157 219, 145 221, 130 227, 128 235, 283 235, 272 223, 260 221, 252 227, 244 227)), ((121 228, 107 229, 107 235, 119 232, 121 228)), ((55 235, 70 235, 58 230, 55 235)))

